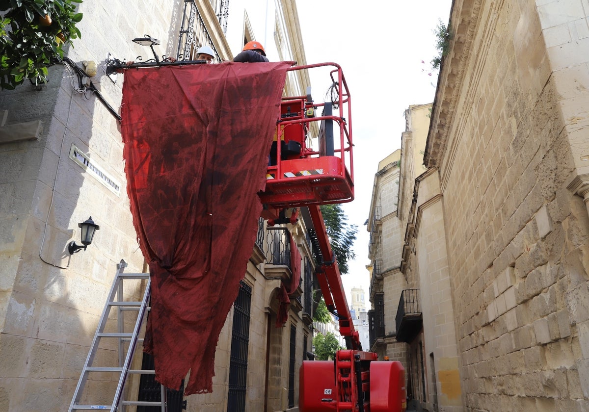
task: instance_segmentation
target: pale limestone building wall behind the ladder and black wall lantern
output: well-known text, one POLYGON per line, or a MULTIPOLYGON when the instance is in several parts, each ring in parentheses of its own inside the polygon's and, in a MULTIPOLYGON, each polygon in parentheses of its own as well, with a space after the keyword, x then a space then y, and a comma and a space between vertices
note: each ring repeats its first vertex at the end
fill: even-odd
MULTIPOLYGON (((168 52, 168 33, 180 2, 84 2, 67 57, 99 65, 92 82, 115 110, 118 83, 104 75, 109 52, 134 59, 149 49, 131 43, 148 32, 168 52)), ((175 37, 175 35, 174 35, 175 37)), ((170 40, 169 45, 172 44, 170 40)), ((169 51, 171 51, 171 46, 169 51)), ((6 125, 41 122, 37 139, 0 145, 0 410, 67 410, 98 318, 121 258, 127 272, 141 272, 131 223, 117 121, 90 91, 78 93, 77 78, 57 64, 41 91, 25 83, 0 92, 6 125), (109 190, 70 157, 72 145, 118 184, 109 190), (80 244, 78 223, 100 225, 86 251, 70 257, 67 244, 80 244)), ((140 285, 129 293, 140 293, 140 285)), ((108 357, 112 348, 101 349, 108 357)), ((92 383, 112 387, 110 377, 92 383)))

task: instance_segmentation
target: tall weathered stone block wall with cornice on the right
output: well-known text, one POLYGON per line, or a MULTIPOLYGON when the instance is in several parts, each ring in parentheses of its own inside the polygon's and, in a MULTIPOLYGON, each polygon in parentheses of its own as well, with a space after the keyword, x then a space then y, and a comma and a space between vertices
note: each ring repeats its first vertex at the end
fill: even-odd
POLYGON ((585 9, 532 0, 453 9, 442 84, 454 91, 438 89, 428 155, 441 175, 473 410, 589 405, 589 218, 567 188, 587 142, 575 143, 586 117, 585 9))

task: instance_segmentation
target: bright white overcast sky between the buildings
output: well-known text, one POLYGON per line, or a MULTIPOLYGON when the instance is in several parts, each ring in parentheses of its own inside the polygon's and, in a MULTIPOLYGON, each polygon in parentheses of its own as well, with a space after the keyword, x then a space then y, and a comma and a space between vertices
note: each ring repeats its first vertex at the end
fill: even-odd
MULTIPOLYGON (((366 265, 370 196, 378 162, 401 148, 405 109, 434 101, 438 55, 434 31, 448 24, 451 0, 368 2, 297 0, 307 64, 336 62, 342 67, 352 98, 355 194, 343 204, 349 223, 358 226, 356 260, 342 275, 350 289, 368 293, 366 265)), ((312 78, 313 82, 313 78, 312 78)), ((313 85, 313 98, 325 95, 313 85)), ((369 307, 368 307, 369 308, 369 307)))

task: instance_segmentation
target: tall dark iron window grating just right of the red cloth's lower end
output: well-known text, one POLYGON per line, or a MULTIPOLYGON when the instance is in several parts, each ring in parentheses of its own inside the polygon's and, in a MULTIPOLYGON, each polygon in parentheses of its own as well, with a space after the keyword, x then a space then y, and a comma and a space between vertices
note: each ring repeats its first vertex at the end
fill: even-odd
POLYGON ((252 288, 241 281, 239 294, 233 305, 227 412, 244 412, 246 410, 247 349, 250 339, 251 305, 252 288))

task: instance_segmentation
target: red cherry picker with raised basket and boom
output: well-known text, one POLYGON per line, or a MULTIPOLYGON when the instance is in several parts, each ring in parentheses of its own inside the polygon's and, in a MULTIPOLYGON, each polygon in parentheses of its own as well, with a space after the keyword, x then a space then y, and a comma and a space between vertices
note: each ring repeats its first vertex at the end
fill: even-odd
POLYGON ((289 71, 328 68, 330 102, 313 102, 306 96, 284 97, 270 152, 266 190, 260 192, 262 217, 294 223, 298 209, 308 211, 309 232, 321 264, 317 281, 327 309, 339 319, 345 350, 334 361, 303 361, 300 368, 301 412, 384 412, 406 408, 405 370, 396 361, 378 361, 376 353, 363 351, 346 301, 335 255, 329 244, 322 204, 352 201, 352 112, 348 85, 335 63, 292 67, 289 71), (317 115, 321 112, 320 115, 317 115), (312 124, 319 124, 318 142, 310 139, 312 124), (285 210, 294 208, 289 218, 285 210))

